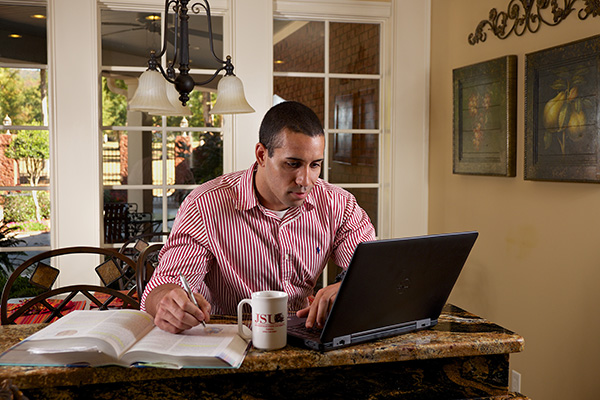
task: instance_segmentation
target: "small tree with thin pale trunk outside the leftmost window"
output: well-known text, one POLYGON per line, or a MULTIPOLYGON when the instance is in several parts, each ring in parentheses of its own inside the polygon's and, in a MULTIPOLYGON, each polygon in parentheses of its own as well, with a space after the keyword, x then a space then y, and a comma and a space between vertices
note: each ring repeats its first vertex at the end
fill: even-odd
MULTIPOLYGON (((31 186, 38 186, 44 173, 46 160, 50 157, 50 144, 46 131, 20 131, 13 137, 6 149, 5 155, 14 160, 21 160, 31 186)), ((42 222, 41 207, 38 202, 37 190, 31 191, 35 204, 35 216, 42 222)))

